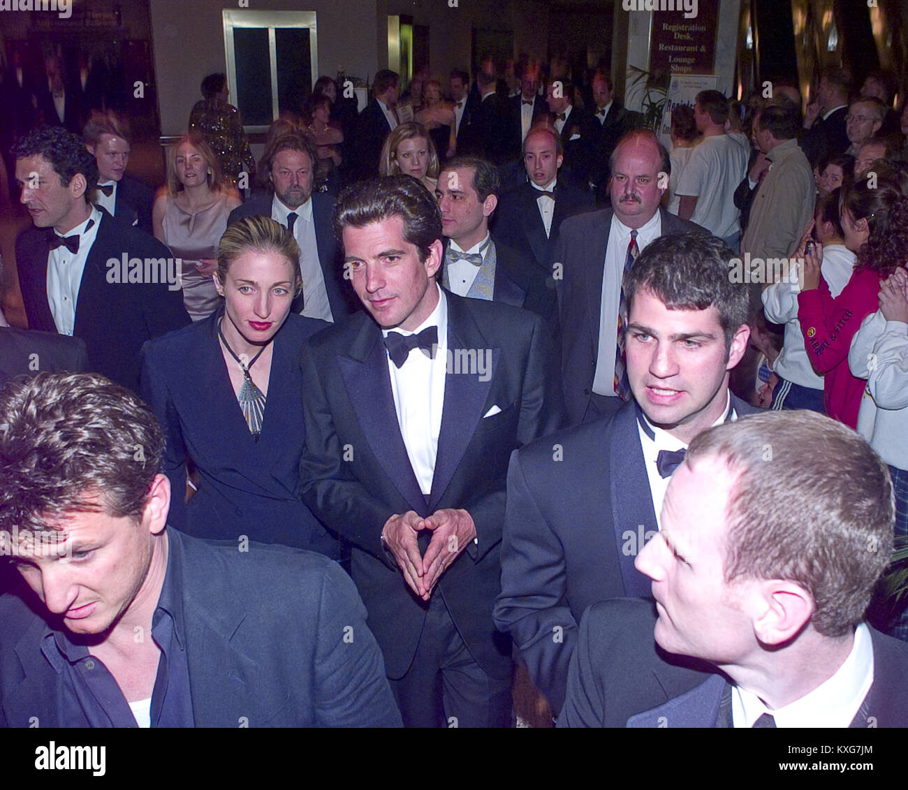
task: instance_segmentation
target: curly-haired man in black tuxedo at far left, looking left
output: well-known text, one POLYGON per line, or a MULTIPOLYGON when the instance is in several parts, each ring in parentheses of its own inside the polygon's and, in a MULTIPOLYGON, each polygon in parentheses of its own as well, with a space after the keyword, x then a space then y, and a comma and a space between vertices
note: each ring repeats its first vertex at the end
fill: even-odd
POLYGON ((82 338, 92 370, 137 390, 143 342, 190 321, 171 252, 88 202, 98 168, 81 137, 44 126, 13 153, 35 223, 15 242, 29 328, 82 338))

